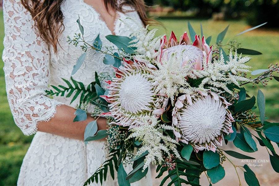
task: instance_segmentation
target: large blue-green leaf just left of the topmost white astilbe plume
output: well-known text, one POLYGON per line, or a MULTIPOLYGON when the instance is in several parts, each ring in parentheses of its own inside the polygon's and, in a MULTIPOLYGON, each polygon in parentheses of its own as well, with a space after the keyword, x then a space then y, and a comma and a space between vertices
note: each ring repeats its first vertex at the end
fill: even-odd
POLYGON ((130 47, 132 39, 126 36, 107 35, 107 40, 128 54, 135 54, 136 47, 130 47))

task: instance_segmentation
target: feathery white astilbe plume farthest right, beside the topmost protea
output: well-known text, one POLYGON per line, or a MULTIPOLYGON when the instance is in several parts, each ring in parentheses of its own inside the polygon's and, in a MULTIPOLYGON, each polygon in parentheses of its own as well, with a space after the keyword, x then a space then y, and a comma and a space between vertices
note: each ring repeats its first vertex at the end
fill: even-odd
POLYGON ((242 77, 240 73, 250 72, 251 67, 245 63, 251 58, 248 56, 242 57, 241 55, 238 57, 237 51, 234 56, 232 55, 232 51, 230 51, 229 61, 224 60, 222 51, 220 51, 220 56, 220 59, 214 60, 213 63, 203 63, 203 69, 193 70, 193 74, 198 78, 204 78, 199 88, 204 88, 204 85, 207 84, 210 86, 206 88, 212 89, 217 93, 222 92, 221 89, 223 89, 233 94, 227 85, 234 83, 240 87, 239 82, 250 81, 250 79, 242 77))

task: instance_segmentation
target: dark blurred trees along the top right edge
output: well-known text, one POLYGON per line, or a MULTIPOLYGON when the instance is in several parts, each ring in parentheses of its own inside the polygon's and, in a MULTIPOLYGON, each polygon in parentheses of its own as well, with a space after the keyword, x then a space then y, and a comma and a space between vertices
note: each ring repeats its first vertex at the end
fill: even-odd
POLYGON ((265 27, 279 27, 279 0, 145 0, 145 2, 149 6, 154 6, 149 9, 150 14, 159 17, 245 19, 251 26, 268 22, 265 27))

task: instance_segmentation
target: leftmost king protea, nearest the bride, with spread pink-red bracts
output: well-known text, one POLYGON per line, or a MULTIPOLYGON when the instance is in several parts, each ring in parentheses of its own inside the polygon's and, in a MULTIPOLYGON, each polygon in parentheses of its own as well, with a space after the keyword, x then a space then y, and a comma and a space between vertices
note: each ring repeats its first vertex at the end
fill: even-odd
POLYGON ((123 66, 114 68, 115 78, 108 83, 108 95, 102 95, 110 103, 110 114, 115 118, 117 125, 137 126, 139 118, 144 116, 160 115, 165 111, 168 98, 165 95, 155 94, 153 82, 146 74, 150 68, 156 68, 138 60, 123 58, 123 66))

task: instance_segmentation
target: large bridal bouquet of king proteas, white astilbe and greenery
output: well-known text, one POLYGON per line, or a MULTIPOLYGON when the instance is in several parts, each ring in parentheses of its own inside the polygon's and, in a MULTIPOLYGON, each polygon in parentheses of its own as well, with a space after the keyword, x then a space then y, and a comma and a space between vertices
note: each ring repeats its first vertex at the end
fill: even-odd
POLYGON ((63 79, 68 87, 52 86, 54 90, 47 91, 48 95, 67 94, 73 95, 72 101, 80 100, 74 121, 86 119, 88 104, 95 105, 92 116, 108 119, 108 130, 97 132, 96 121, 86 126, 84 141, 106 138, 109 154, 84 185, 102 184, 109 169, 113 179, 117 171, 120 186, 128 186, 144 178, 150 164, 157 166, 156 178, 168 171, 160 185, 168 180, 167 185, 198 186, 201 173, 211 185, 224 178, 223 162, 228 160, 238 178, 242 172, 246 183, 256 186, 259 182, 249 166, 237 166, 230 160, 255 159, 241 154, 256 152, 255 140, 267 148, 271 165, 279 172, 277 147, 271 143, 278 145, 278 123, 266 121, 263 92, 258 90, 256 104, 255 96, 243 87, 266 86, 267 79, 279 81, 273 75, 279 71, 278 64, 254 70, 251 74, 258 77, 248 78, 252 68, 246 65, 251 60, 246 55, 261 53, 240 48, 236 40, 223 43, 228 27, 211 46, 211 37, 203 36, 202 26, 199 36, 188 22, 189 34, 185 32, 179 39, 173 32, 169 39, 166 35, 155 38, 156 29, 148 27, 134 30, 130 37, 108 35, 116 46, 113 48, 102 47, 99 36, 93 44, 86 42, 80 20, 77 22, 81 33, 68 37, 68 42, 75 46, 82 43, 85 53, 72 75, 90 50, 104 53, 104 64, 115 71, 115 77, 105 79, 106 86, 101 86, 97 72, 95 82, 87 87, 71 78, 71 82, 63 79), (222 145, 228 143, 239 152, 223 150, 222 145), (132 164, 133 170, 126 173, 123 166, 127 164, 132 164))

